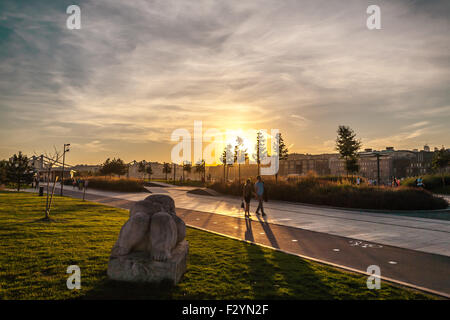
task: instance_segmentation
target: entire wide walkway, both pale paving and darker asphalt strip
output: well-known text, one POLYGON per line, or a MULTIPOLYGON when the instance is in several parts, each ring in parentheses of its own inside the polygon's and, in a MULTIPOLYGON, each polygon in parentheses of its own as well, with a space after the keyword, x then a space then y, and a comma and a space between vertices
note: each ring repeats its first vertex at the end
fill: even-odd
MULTIPOLYGON (((191 227, 358 272, 366 272, 369 265, 378 265, 381 276, 386 280, 450 298, 450 257, 448 251, 441 250, 448 250, 448 221, 279 202, 269 203, 267 219, 253 215, 252 220, 247 220, 243 219, 240 202, 236 205, 235 199, 192 195, 186 193, 191 189, 186 187, 149 189, 153 193, 170 194, 175 200, 177 214, 191 227), (328 223, 332 225, 327 226, 328 223), (347 233, 355 236, 345 235, 347 233), (386 236, 380 238, 380 234, 386 236), (397 237, 393 237, 393 234, 397 234, 397 237), (405 236, 400 242, 403 246, 386 243, 392 242, 392 239, 398 242, 401 235, 405 236), (421 237, 429 237, 430 241, 442 241, 447 247, 431 242, 429 246, 420 247, 421 251, 408 248, 417 247, 423 242, 421 237), (373 241, 372 238, 384 241, 373 241), (430 248, 431 251, 440 248, 439 251, 443 254, 426 252, 430 248)), ((81 192, 73 191, 72 188, 65 189, 65 195, 82 197, 81 192)), ((134 201, 148 195, 89 190, 86 199, 129 209, 134 201)))

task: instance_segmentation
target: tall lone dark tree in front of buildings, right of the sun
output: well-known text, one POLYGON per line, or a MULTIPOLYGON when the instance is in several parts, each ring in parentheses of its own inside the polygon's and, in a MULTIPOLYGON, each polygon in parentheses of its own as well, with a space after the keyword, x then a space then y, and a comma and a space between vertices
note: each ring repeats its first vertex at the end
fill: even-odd
MULTIPOLYGON (((339 126, 336 138, 336 150, 345 160, 345 170, 349 173, 359 171, 358 150, 361 148, 361 141, 356 139, 356 133, 348 126, 339 126)), ((379 181, 377 181, 379 183, 379 181)))

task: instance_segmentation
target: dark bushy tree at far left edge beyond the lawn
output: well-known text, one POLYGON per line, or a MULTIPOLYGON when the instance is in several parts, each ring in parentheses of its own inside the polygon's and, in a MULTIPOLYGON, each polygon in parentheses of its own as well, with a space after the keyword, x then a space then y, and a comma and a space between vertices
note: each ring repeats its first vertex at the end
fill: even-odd
POLYGON ((6 163, 6 179, 17 184, 17 192, 20 191, 22 184, 33 181, 34 174, 35 170, 30 165, 29 159, 21 151, 18 155, 13 155, 6 163))

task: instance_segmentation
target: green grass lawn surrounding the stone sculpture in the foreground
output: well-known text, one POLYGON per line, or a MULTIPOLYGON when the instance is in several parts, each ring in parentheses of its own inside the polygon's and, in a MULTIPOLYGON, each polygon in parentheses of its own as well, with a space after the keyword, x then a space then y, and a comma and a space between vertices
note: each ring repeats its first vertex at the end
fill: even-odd
POLYGON ((106 276, 110 250, 128 212, 56 197, 0 192, 0 299, 429 299, 366 277, 257 245, 188 228, 188 270, 177 286, 136 285, 106 276), (66 269, 81 268, 81 290, 68 290, 66 269))

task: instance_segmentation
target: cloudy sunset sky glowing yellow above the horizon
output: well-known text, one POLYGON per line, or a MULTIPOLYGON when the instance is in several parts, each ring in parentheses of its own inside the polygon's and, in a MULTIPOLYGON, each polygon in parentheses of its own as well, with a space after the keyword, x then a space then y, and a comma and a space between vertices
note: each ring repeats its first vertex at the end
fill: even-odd
POLYGON ((339 125, 363 148, 448 147, 449 34, 447 0, 2 0, 0 159, 170 161, 194 121, 298 153, 335 152, 339 125))

